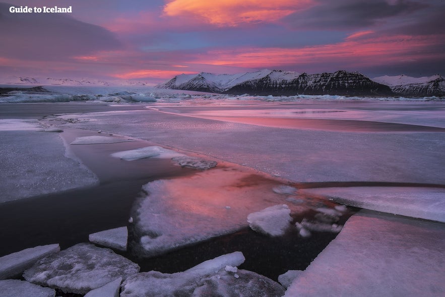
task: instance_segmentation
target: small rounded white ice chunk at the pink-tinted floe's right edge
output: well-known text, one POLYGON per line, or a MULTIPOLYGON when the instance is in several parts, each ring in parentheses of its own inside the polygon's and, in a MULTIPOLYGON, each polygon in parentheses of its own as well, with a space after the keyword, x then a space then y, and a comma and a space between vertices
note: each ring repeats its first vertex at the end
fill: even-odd
POLYGON ((290 209, 286 204, 270 206, 247 216, 247 222, 252 230, 270 236, 284 235, 291 221, 290 209))

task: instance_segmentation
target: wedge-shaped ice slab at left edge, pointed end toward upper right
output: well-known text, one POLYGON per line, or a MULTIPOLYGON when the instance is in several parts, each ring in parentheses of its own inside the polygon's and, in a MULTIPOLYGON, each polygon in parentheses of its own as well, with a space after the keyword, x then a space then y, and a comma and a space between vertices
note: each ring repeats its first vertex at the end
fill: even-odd
POLYGON ((0 279, 22 274, 38 260, 60 251, 59 245, 38 246, 0 258, 0 279))

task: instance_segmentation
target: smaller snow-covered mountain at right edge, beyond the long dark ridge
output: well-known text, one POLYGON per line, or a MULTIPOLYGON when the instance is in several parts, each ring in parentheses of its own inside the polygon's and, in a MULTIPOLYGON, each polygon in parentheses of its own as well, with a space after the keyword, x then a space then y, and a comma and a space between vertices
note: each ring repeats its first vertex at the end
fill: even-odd
POLYGON ((394 93, 403 96, 445 96, 445 79, 438 74, 419 78, 385 75, 372 80, 390 86, 394 93))

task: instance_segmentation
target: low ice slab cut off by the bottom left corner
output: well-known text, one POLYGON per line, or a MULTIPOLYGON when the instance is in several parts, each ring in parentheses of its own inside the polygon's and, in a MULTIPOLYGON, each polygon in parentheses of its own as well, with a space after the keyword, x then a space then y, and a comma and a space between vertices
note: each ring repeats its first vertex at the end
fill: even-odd
POLYGON ((0 280, 0 297, 54 297, 55 290, 25 280, 0 280))

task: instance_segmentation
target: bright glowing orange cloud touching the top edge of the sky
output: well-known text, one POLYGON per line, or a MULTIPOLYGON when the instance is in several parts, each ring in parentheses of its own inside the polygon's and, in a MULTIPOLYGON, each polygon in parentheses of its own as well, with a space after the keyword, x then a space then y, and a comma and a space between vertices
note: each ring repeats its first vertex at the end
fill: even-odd
POLYGON ((173 0, 165 5, 170 17, 198 16, 217 26, 238 26, 242 23, 271 23, 298 10, 308 8, 313 0, 173 0))

